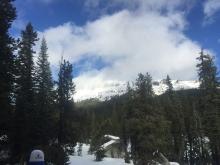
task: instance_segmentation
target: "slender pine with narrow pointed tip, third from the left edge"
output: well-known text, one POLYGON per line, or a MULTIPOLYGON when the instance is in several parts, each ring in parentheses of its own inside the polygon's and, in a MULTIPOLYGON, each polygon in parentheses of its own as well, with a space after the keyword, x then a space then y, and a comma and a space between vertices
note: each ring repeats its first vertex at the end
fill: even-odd
POLYGON ((36 143, 38 145, 48 145, 53 138, 54 126, 54 91, 53 81, 48 62, 47 43, 42 39, 40 53, 36 66, 35 92, 36 92, 36 115, 34 116, 36 133, 36 143))

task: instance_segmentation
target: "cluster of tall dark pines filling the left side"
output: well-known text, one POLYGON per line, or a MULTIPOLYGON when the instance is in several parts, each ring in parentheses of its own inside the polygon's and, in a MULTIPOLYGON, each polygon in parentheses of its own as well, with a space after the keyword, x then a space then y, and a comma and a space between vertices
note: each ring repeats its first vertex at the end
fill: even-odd
POLYGON ((24 164, 33 149, 42 149, 47 162, 66 164, 78 131, 72 64, 62 59, 54 82, 46 40, 37 55, 31 23, 19 40, 9 35, 12 0, 0 1, 0 15, 0 164, 24 164))

